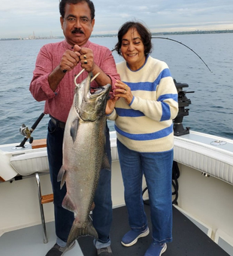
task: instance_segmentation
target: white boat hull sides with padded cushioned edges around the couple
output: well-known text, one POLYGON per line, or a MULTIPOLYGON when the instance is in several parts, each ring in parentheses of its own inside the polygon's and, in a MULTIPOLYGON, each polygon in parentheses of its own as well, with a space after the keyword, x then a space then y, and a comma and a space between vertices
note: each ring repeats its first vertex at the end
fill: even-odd
MULTIPOLYGON (((116 134, 111 132, 110 138, 112 198, 113 207, 117 207, 125 203, 124 189, 116 134)), ((0 236, 10 230, 41 224, 35 172, 43 174, 40 175, 42 194, 52 193, 46 148, 32 149, 26 145, 28 148, 22 150, 12 149, 15 144, 0 145, 0 236)), ((233 246, 233 141, 191 131, 189 135, 175 137, 174 160, 180 169, 177 201, 180 211, 204 227, 215 242, 223 239, 233 246)), ((44 216, 46 222, 53 221, 52 203, 44 205, 44 216)))

